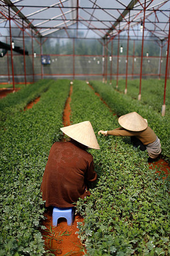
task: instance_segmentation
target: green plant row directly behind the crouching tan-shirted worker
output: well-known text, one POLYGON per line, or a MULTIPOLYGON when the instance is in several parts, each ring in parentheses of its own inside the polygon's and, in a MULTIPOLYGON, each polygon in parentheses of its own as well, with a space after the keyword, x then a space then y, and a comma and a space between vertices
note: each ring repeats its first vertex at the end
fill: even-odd
MULTIPOLYGON (((153 129, 160 138, 162 154, 170 163, 170 118, 169 115, 161 116, 160 113, 157 113, 151 106, 143 105, 142 102, 132 99, 130 96, 121 94, 113 89, 109 84, 103 84, 99 81, 90 81, 94 90, 100 94, 102 99, 106 101, 110 109, 113 110, 113 113, 118 116, 130 113, 137 112, 142 117, 146 118, 148 125, 153 129)), ((111 127, 111 130, 119 126, 118 122, 116 125, 111 127)), ((102 127, 105 130, 109 130, 108 126, 102 127)))

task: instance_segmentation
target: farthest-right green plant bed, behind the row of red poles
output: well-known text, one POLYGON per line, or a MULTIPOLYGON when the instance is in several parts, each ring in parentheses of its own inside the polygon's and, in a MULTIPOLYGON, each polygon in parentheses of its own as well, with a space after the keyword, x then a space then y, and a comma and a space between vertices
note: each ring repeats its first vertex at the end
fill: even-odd
MULTIPOLYGON (((152 106, 152 108, 158 112, 161 113, 161 107, 163 105, 163 99, 164 99, 164 83, 165 81, 163 79, 147 79, 142 80, 141 84, 141 102, 142 104, 147 104, 148 107, 152 106)), ((125 80, 119 80, 118 82, 118 88, 119 92, 125 92, 125 80)), ((116 81, 113 81, 113 88, 116 88, 116 81)), ((170 80, 167 80, 167 89, 166 89, 166 115, 170 114, 169 109, 169 98, 170 98, 170 80)), ((131 96, 132 98, 135 98, 138 100, 139 95, 139 79, 135 80, 128 80, 127 81, 127 95, 131 96)))

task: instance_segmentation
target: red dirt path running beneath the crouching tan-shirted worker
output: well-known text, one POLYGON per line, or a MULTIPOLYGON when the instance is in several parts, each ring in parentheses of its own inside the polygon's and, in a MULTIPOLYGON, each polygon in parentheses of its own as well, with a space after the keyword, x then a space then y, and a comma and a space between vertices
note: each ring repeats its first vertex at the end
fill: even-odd
MULTIPOLYGON (((90 88, 93 88, 92 85, 89 84, 89 82, 86 82, 90 88)), ((113 112, 110 107, 107 105, 107 103, 101 98, 101 96, 99 95, 99 93, 95 92, 95 94, 99 97, 99 99, 107 106, 107 108, 109 108, 110 112, 113 112)), ((116 115, 115 113, 113 113, 113 115, 116 115)), ((160 174, 160 170, 163 171, 165 173, 165 176, 163 177, 163 179, 166 179, 167 176, 169 175, 170 173, 170 167, 168 165, 168 163, 164 160, 164 159, 159 159, 159 160, 156 160, 155 162, 153 163, 148 163, 149 164, 149 168, 150 169, 153 169, 153 167, 155 168, 156 167, 156 172, 158 172, 160 174), (160 170, 159 170, 160 168, 160 170)))

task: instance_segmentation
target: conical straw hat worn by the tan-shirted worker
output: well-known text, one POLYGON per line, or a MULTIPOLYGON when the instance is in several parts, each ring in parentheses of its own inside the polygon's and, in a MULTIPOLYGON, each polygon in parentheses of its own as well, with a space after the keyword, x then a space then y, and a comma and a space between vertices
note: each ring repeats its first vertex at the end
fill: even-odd
POLYGON ((129 131, 143 131, 147 128, 146 120, 136 112, 122 115, 118 119, 119 125, 129 131))

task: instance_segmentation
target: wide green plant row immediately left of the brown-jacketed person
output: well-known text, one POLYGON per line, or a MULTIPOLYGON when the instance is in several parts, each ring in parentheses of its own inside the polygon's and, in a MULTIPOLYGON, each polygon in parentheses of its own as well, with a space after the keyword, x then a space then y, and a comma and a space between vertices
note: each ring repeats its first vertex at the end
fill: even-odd
POLYGON ((40 185, 49 150, 62 134, 68 94, 69 80, 50 81, 49 90, 32 109, 9 115, 4 122, 0 138, 0 255, 45 253, 39 231, 44 212, 40 185))

